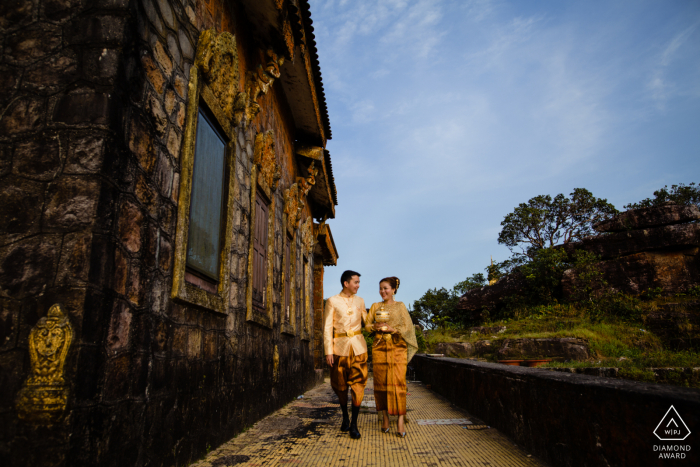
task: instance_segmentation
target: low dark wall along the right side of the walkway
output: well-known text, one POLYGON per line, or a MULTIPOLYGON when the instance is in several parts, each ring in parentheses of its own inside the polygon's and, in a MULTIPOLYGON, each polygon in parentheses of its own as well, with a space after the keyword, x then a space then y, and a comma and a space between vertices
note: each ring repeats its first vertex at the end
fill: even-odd
POLYGON ((554 466, 665 465, 662 445, 690 446, 676 465, 700 465, 700 391, 455 358, 416 355, 419 380, 554 466), (684 441, 654 430, 673 405, 684 441))

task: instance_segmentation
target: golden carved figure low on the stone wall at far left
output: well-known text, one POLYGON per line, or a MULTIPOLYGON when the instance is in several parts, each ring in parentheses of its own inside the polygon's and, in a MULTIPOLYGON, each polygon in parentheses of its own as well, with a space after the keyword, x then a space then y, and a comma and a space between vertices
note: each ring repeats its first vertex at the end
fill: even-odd
POLYGON ((17 395, 19 418, 51 422, 63 413, 68 401, 63 367, 72 340, 68 317, 53 305, 29 334, 31 370, 17 395))

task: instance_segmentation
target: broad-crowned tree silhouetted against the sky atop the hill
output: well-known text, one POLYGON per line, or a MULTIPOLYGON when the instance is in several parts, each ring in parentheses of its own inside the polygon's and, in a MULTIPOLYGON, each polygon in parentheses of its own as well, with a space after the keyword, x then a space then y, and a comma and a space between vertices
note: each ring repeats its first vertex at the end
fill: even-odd
POLYGON ((563 194, 535 196, 503 219, 498 243, 506 245, 514 257, 532 258, 542 248, 591 235, 594 223, 616 213, 615 206, 585 188, 574 189, 569 198, 563 194))

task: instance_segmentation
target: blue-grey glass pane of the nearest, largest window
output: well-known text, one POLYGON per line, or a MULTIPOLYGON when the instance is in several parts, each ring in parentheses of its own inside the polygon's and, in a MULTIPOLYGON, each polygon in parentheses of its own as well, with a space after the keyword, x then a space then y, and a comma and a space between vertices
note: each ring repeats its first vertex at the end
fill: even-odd
POLYGON ((187 266, 219 278, 226 143, 201 110, 192 174, 187 266))

